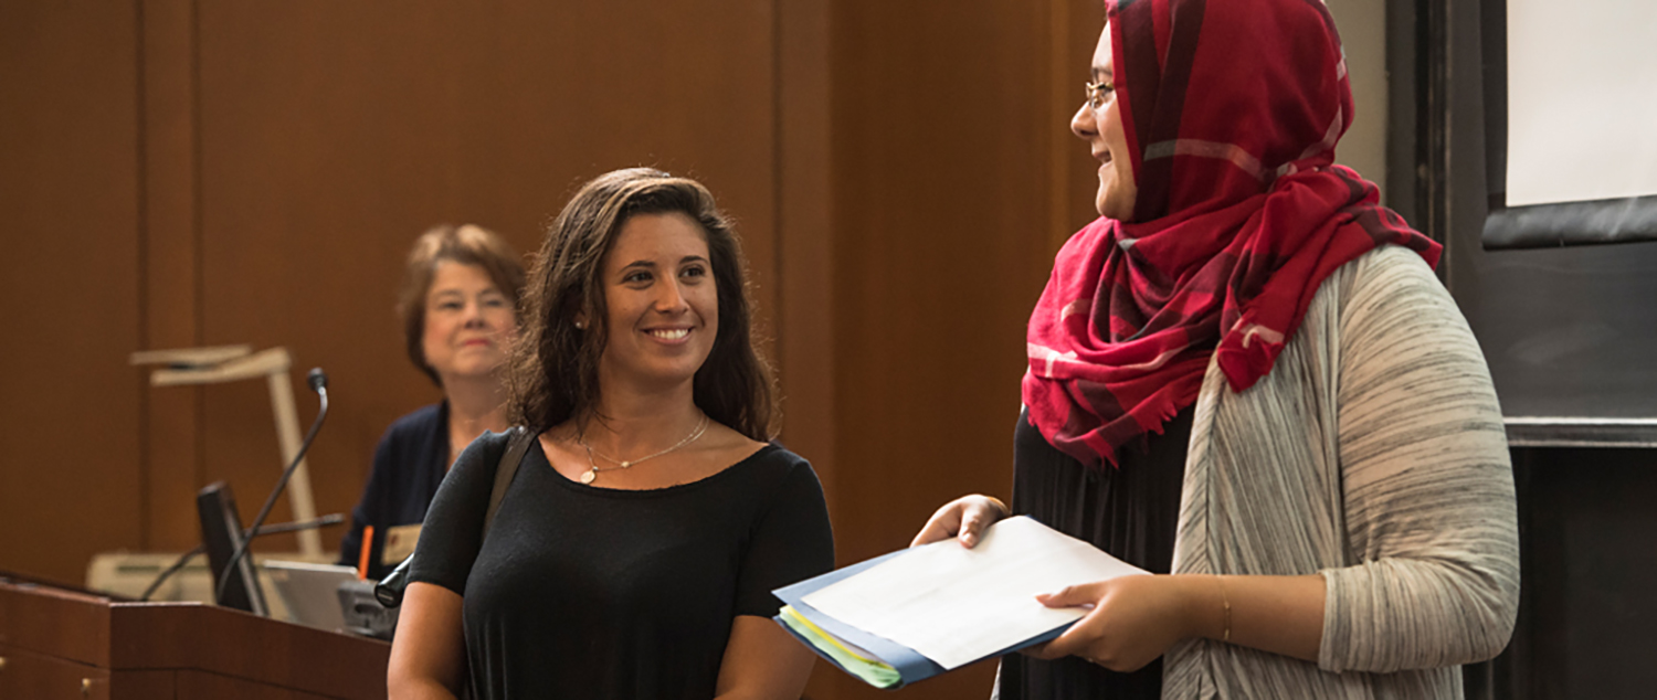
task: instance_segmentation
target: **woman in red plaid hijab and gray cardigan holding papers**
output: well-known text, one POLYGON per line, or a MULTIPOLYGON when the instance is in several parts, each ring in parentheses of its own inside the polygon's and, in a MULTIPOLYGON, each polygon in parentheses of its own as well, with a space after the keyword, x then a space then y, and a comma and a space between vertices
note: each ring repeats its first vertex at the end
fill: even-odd
MULTIPOLYGON (((1011 511, 1168 576, 1002 660, 999 697, 1460 698, 1518 607, 1501 412, 1440 247, 1334 164, 1319 0, 1109 0, 1100 218, 1029 321, 1011 511)), ((1007 515, 944 505, 916 543, 1007 515)))

